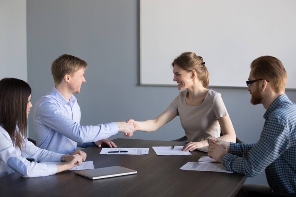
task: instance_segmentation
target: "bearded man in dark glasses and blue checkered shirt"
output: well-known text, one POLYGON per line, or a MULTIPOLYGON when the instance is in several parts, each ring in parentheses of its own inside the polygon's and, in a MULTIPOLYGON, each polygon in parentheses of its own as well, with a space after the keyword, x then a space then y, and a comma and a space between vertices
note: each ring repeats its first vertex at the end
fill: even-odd
POLYGON ((279 59, 272 56, 255 59, 247 86, 251 103, 261 103, 266 109, 259 141, 238 144, 212 139, 210 142, 208 155, 221 162, 226 170, 248 177, 265 170, 268 185, 244 185, 238 196, 258 195, 259 191, 263 196, 295 195, 296 105, 285 94, 286 81, 287 73, 279 59))

